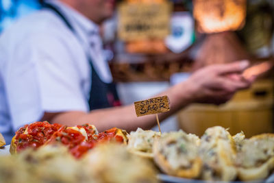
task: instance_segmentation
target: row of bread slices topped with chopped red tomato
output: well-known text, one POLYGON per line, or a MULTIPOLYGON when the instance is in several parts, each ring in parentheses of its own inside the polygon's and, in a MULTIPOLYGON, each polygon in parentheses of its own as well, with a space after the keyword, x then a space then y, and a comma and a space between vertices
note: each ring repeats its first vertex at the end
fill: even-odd
POLYGON ((66 127, 60 124, 50 124, 47 121, 34 122, 21 127, 12 138, 10 153, 16 154, 29 147, 37 149, 42 145, 61 144, 68 147, 75 158, 81 158, 89 149, 98 143, 127 143, 127 132, 119 128, 98 133, 96 127, 90 124, 66 127))

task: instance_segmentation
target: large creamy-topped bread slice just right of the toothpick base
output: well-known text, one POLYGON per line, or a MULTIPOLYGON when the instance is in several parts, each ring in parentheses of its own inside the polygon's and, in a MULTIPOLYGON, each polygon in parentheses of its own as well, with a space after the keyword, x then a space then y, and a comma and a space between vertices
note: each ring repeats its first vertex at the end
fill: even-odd
POLYGON ((153 143, 155 163, 169 175, 197 178, 202 165, 197 138, 192 134, 188 136, 182 130, 162 134, 153 143))

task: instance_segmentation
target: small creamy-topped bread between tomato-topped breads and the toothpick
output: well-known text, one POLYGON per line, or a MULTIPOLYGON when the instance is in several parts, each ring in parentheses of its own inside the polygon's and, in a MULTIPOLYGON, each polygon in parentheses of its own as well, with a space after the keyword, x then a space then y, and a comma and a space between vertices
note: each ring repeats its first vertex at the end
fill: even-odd
POLYGON ((153 158, 152 146, 154 139, 160 136, 160 132, 142 130, 140 127, 136 132, 130 132, 127 143, 127 150, 142 158, 153 158))

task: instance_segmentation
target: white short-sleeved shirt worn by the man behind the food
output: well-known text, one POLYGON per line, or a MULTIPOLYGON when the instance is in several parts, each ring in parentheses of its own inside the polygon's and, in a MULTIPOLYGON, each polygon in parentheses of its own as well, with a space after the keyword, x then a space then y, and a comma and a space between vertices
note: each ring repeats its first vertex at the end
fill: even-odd
POLYGON ((19 20, 0 36, 0 132, 8 143, 19 127, 39 121, 46 111, 89 110, 91 69, 86 53, 101 80, 112 81, 101 39, 90 38, 99 27, 59 1, 50 2, 78 36, 48 9, 19 20), (96 47, 90 47, 90 39, 96 47))

